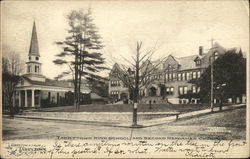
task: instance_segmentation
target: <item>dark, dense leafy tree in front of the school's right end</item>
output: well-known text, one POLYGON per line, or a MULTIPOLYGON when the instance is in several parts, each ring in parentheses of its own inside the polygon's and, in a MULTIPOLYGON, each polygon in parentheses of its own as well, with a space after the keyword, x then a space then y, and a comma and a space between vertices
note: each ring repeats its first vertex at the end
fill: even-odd
MULTIPOLYGON (((225 98, 232 98, 233 102, 236 97, 242 97, 246 94, 246 59, 243 58, 241 51, 236 49, 228 50, 213 63, 214 76, 214 97, 221 101, 222 109, 225 98)), ((209 66, 200 79, 191 80, 200 86, 199 96, 202 101, 209 101, 211 85, 211 66, 209 66)))

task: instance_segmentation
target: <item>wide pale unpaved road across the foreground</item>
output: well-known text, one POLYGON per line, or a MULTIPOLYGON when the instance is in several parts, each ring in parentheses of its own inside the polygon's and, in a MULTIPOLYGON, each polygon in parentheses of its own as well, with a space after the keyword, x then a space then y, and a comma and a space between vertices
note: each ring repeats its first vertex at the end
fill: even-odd
POLYGON ((184 137, 245 139, 246 108, 214 113, 140 129, 86 125, 86 123, 3 119, 3 139, 74 137, 184 137))

